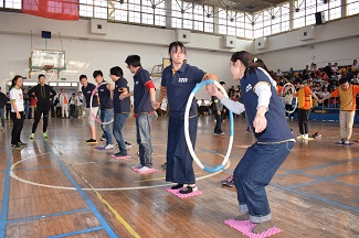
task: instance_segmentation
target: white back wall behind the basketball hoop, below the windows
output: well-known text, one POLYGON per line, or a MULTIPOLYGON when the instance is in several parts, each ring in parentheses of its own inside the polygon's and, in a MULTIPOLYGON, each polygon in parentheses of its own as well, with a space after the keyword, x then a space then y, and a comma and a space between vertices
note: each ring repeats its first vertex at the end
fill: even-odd
MULTIPOLYGON (((77 82, 81 74, 92 79, 92 73, 101 69, 107 79, 109 68, 120 66, 125 77, 133 87, 133 76, 126 68, 127 55, 141 56, 142 66, 151 71, 156 64, 161 64, 162 55, 168 57, 168 45, 176 41, 176 31, 156 28, 145 28, 129 24, 108 23, 107 34, 89 33, 88 20, 78 22, 55 21, 21 13, 0 12, 0 80, 11 79, 14 75, 28 77, 29 56, 32 47, 45 48, 45 40, 41 31, 51 31, 52 39, 46 41, 47 50, 61 50, 59 32, 62 35, 63 48, 66 52, 66 71, 60 73, 60 78, 77 82), (6 55, 6 57, 4 57, 6 55)), ((223 47, 222 36, 191 33, 191 42, 186 44, 188 63, 204 72, 218 75, 220 80, 233 85, 229 72, 229 61, 232 52, 223 47)), ((250 48, 252 41, 237 40, 241 48, 250 48)), ((44 72, 41 72, 44 73, 44 72)), ((31 79, 36 79, 36 73, 31 79)), ((57 80, 56 74, 45 74, 47 80, 57 80)), ((159 78, 154 78, 159 85, 159 78)), ((209 98, 200 90, 198 98, 209 98)))

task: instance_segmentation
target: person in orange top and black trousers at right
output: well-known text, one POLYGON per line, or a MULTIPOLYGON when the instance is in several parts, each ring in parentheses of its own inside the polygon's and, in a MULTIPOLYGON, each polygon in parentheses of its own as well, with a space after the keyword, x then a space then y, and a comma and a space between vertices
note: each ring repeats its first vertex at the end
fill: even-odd
MULTIPOLYGON (((310 90, 310 88, 304 85, 302 78, 297 78, 294 80, 294 85, 297 88, 297 93, 293 95, 293 97, 298 97, 298 125, 299 125, 299 132, 300 136, 297 137, 298 139, 308 140, 308 132, 309 132, 309 115, 312 109, 312 97, 316 100, 319 100, 318 97, 310 90)), ((294 93, 294 90, 293 90, 294 93)))

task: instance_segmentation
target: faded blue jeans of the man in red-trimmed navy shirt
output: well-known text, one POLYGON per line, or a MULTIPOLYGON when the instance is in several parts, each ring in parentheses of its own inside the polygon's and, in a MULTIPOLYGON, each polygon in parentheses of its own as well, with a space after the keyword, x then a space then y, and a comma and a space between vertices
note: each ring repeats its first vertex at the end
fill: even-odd
POLYGON ((151 122, 154 115, 140 113, 136 118, 137 143, 139 145, 139 161, 142 166, 152 167, 151 122))

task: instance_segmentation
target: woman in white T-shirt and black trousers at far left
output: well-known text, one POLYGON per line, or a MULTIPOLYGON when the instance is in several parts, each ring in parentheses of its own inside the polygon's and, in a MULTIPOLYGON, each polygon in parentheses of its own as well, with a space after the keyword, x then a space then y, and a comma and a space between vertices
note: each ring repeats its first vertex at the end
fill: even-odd
POLYGON ((10 100, 11 100, 11 119, 13 121, 11 131, 11 148, 22 149, 27 144, 20 140, 21 131, 23 128, 23 93, 22 93, 22 77, 14 76, 11 82, 10 100))

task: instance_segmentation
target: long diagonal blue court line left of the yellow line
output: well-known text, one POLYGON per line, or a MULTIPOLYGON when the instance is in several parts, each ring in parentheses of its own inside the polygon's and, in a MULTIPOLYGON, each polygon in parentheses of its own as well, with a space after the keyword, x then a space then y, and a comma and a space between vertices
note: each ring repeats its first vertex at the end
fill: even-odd
POLYGON ((54 158, 54 160, 56 161, 56 163, 59 164, 59 166, 62 169, 62 171, 64 172, 64 174, 66 175, 66 177, 68 178, 68 181, 72 183, 72 185, 74 187, 76 187, 76 191, 80 193, 80 195, 82 196, 82 198, 85 201, 85 203, 87 204, 88 208, 94 213, 94 215, 96 216, 97 220, 101 223, 101 225, 105 228, 105 230, 107 231, 107 234, 109 235, 109 237, 118 237, 115 231, 110 228, 110 226, 107 224, 107 221, 105 220, 105 218, 101 215, 101 213, 97 210, 97 208, 95 207, 95 205, 91 202, 91 199, 86 196, 86 194, 84 193, 84 191, 81 188, 81 186, 75 182, 75 180, 71 176, 70 172, 67 171, 67 169, 64 166, 64 164, 60 161, 60 159, 55 155, 55 153, 53 152, 53 150, 49 147, 49 144, 46 143, 45 140, 43 140, 45 148, 49 150, 50 154, 54 158))

